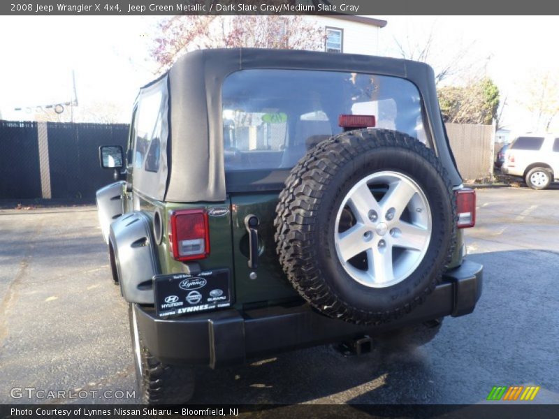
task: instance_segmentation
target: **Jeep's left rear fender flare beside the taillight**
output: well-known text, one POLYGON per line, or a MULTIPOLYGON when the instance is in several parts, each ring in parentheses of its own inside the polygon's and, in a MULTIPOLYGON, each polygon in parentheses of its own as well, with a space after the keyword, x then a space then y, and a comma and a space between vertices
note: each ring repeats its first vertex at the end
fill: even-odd
POLYGON ((151 223, 144 212, 134 211, 110 225, 120 291, 127 302, 154 304, 152 277, 159 273, 159 263, 151 223))

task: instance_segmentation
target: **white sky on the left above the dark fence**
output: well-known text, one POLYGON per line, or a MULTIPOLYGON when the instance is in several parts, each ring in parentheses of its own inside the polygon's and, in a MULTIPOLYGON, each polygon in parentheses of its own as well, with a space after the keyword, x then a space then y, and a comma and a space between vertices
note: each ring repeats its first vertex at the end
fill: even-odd
POLYGON ((137 16, 1 16, 3 119, 26 117, 13 108, 71 101, 74 71, 80 105, 116 103, 124 109, 118 119, 128 122, 138 88, 154 77, 144 60, 145 31, 155 21, 137 16))

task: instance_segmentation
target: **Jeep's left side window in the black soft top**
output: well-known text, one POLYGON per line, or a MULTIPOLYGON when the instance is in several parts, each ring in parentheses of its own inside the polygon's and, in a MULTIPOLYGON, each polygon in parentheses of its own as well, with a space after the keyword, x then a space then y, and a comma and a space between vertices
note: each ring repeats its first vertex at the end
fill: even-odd
POLYGON ((161 152, 161 91, 152 91, 138 103, 136 115, 136 146, 133 166, 148 172, 159 170, 161 152))

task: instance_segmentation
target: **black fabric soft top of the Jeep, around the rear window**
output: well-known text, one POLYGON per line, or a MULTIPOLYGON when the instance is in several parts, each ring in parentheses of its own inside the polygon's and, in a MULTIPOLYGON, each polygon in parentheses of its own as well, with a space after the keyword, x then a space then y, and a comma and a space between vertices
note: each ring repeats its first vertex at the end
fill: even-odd
POLYGON ((462 183, 440 117, 433 69, 427 64, 358 54, 234 48, 189 52, 140 91, 141 96, 161 82, 168 86, 168 164, 157 182, 164 196, 157 193, 157 198, 176 202, 226 199, 222 84, 229 74, 247 68, 372 73, 410 80, 423 99, 435 152, 453 185, 462 183))

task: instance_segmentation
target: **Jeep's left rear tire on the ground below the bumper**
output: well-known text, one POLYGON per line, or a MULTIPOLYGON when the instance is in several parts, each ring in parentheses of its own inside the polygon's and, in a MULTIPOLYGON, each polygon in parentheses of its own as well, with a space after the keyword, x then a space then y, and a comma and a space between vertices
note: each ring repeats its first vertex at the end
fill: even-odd
POLYGON ((140 362, 136 355, 136 338, 133 325, 133 304, 129 304, 130 335, 136 369, 136 397, 143 404, 184 404, 194 394, 194 369, 183 365, 166 365, 144 346, 140 330, 138 344, 140 362))

